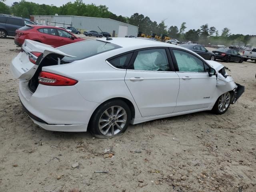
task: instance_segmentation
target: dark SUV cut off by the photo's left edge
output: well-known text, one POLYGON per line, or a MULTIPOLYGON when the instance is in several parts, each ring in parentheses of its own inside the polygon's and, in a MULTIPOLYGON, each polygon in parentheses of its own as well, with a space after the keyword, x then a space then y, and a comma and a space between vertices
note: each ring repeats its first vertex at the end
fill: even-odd
POLYGON ((33 22, 25 18, 0 14, 0 38, 15 36, 16 29, 19 29, 26 24, 34 25, 33 22))

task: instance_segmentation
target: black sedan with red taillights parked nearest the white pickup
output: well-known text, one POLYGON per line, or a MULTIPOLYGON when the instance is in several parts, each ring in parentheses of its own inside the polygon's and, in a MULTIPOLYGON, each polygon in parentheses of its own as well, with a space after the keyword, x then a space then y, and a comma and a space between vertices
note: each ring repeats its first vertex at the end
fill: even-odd
POLYGON ((226 62, 237 61, 242 63, 244 58, 234 49, 218 48, 212 51, 215 54, 215 59, 224 60, 226 62))

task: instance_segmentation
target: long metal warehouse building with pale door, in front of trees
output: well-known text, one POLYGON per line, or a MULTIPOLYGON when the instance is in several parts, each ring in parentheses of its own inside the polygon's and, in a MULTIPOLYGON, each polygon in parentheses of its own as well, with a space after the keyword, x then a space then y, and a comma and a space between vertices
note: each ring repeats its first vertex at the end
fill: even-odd
POLYGON ((84 30, 95 30, 100 32, 101 29, 102 31, 108 32, 111 35, 113 31, 115 31, 116 37, 124 37, 129 35, 137 36, 138 34, 138 26, 133 26, 107 18, 31 15, 30 19, 34 22, 45 25, 74 27, 80 30, 81 33, 83 33, 84 30))

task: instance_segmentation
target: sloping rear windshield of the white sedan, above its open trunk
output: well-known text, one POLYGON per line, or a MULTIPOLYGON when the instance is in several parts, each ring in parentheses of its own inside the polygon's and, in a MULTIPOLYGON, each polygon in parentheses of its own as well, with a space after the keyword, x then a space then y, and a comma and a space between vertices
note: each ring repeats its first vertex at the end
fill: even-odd
POLYGON ((73 62, 75 60, 85 59, 118 48, 121 48, 121 46, 110 42, 104 42, 101 40, 86 40, 62 46, 58 48, 58 50, 66 54, 76 56, 62 58, 62 61, 64 62, 73 62))

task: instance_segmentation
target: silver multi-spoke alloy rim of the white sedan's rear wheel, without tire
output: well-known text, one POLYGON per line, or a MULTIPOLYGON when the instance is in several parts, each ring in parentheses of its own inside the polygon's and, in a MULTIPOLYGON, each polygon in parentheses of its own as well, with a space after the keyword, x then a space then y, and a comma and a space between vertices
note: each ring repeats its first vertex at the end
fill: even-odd
POLYGON ((111 106, 100 116, 98 126, 101 134, 114 136, 124 128, 126 122, 126 110, 120 106, 111 106))

